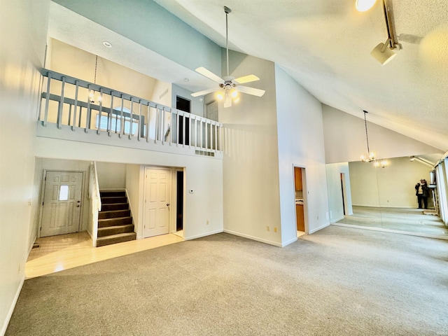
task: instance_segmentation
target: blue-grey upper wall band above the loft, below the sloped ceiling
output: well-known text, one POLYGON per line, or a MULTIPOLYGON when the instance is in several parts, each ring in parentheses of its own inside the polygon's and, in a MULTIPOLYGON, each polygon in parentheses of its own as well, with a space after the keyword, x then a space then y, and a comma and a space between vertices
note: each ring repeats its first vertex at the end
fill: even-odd
POLYGON ((221 48, 154 1, 108 0, 107 6, 103 1, 55 2, 188 69, 221 69, 221 48))

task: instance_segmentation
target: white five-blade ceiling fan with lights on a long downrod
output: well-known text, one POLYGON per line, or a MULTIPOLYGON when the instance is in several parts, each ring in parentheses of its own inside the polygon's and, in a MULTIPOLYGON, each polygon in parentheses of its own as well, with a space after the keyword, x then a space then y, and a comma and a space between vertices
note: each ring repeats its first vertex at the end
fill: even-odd
POLYGON ((225 41, 226 41, 226 50, 227 50, 227 76, 224 78, 221 78, 214 74, 213 72, 205 69, 203 66, 200 66, 199 68, 195 69, 197 73, 200 73, 202 76, 205 76, 214 82, 218 83, 218 87, 213 87, 207 90, 203 90, 200 92, 194 92, 191 95, 193 97, 203 96, 204 94, 208 94, 211 92, 218 92, 216 94, 216 97, 219 100, 224 99, 224 107, 230 107, 232 106, 232 100, 233 102, 237 103, 239 102, 239 92, 246 93, 246 94, 252 94, 257 97, 261 97, 263 94, 265 94, 265 90, 255 89, 254 87, 248 87, 243 86, 241 84, 244 83, 251 83, 255 80, 260 80, 255 75, 248 75, 248 76, 242 76, 239 78, 231 77, 229 76, 229 38, 228 38, 228 14, 232 12, 230 8, 227 6, 224 6, 224 12, 225 12, 225 41))

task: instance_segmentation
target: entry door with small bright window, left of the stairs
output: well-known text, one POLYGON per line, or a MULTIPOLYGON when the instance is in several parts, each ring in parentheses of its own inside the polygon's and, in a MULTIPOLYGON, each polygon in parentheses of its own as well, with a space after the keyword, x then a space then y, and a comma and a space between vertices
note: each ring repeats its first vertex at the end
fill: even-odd
POLYGON ((82 172, 45 174, 41 237, 79 231, 82 192, 82 172))

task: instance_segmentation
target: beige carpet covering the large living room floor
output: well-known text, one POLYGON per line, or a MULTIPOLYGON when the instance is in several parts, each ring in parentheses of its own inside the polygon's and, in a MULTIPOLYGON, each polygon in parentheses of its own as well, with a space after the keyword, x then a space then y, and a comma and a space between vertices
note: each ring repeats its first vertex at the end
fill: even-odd
POLYGON ((25 281, 6 335, 447 335, 448 241, 228 234, 25 281))

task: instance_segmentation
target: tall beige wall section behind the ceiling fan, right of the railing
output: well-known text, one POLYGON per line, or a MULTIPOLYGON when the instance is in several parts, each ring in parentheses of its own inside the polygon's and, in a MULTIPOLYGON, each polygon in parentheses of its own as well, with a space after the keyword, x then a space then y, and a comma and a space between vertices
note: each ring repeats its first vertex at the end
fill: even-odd
POLYGON ((253 73, 260 80, 248 86, 266 93, 241 94, 241 102, 231 108, 218 106, 224 125, 225 231, 281 245, 280 230, 273 230, 280 228, 274 63, 230 52, 230 64, 231 76, 253 73))

